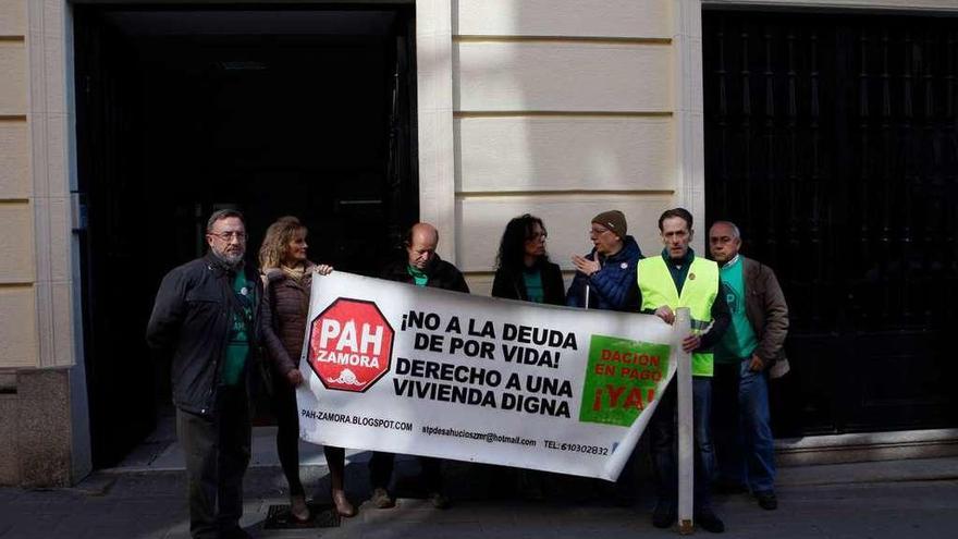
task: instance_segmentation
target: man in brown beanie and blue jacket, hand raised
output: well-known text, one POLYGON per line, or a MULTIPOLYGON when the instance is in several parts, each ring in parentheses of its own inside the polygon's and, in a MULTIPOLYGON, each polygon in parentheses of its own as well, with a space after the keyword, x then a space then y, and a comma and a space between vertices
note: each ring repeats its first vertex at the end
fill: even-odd
POLYGON ((625 215, 618 210, 603 211, 592 219, 589 238, 594 247, 586 256, 573 256, 576 275, 566 294, 569 307, 589 309, 636 310, 627 305, 629 292, 636 286, 636 265, 642 259, 639 244, 626 235, 625 215))

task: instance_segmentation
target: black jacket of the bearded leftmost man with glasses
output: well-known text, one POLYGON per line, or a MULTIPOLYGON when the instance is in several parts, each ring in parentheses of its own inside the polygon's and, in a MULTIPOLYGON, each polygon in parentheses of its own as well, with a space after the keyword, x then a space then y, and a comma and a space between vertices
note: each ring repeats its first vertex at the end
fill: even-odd
MULTIPOLYGON (((246 371, 259 360, 262 282, 249 267, 246 280, 254 289, 246 371)), ((157 292, 146 330, 147 344, 162 359, 172 360, 173 404, 185 412, 216 413, 220 365, 226 351, 233 314, 238 308, 229 270, 213 255, 189 261, 167 273, 157 292)), ((248 376, 244 377, 249 382, 248 376)))

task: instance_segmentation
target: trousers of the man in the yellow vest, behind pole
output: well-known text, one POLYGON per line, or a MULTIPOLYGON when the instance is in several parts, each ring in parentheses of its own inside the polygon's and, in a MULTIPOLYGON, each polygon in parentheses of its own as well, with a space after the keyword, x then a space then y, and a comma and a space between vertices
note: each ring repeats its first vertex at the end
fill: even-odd
MULTIPOLYGON (((649 421, 652 466, 655 473, 655 488, 659 501, 676 504, 678 502, 678 441, 676 430, 676 385, 668 384, 659 401, 659 407, 649 421)), ((692 422, 695 436, 695 510, 701 511, 711 505, 710 488, 715 475, 715 455, 712 451, 710 415, 712 407, 712 379, 692 377, 692 422)))

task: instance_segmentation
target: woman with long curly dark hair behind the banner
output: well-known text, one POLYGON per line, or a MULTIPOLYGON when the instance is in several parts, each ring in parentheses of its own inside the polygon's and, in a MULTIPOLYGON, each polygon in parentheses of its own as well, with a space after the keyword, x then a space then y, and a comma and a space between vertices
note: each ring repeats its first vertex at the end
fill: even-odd
POLYGON ((506 224, 495 257, 493 297, 565 305, 562 270, 545 253, 548 235, 542 220, 529 213, 506 224))

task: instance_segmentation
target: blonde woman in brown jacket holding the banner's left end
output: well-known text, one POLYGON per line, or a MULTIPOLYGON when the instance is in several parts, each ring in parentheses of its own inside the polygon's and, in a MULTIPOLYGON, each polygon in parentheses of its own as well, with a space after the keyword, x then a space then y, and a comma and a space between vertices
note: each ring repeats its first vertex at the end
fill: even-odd
MULTIPOLYGON (((306 492, 299 480, 299 415, 296 387, 303 383, 298 369, 306 318, 309 315, 309 289, 312 273, 329 274, 333 269, 314 265, 306 257, 306 226, 295 217, 281 217, 270 224, 259 249, 263 280, 263 299, 269 302, 263 316, 263 340, 272 367, 272 404, 277 416, 277 452, 290 485, 290 510, 297 520, 311 518, 306 492)), ((330 469, 332 499, 336 512, 353 516, 356 510, 343 489, 345 451, 323 448, 330 469)))

